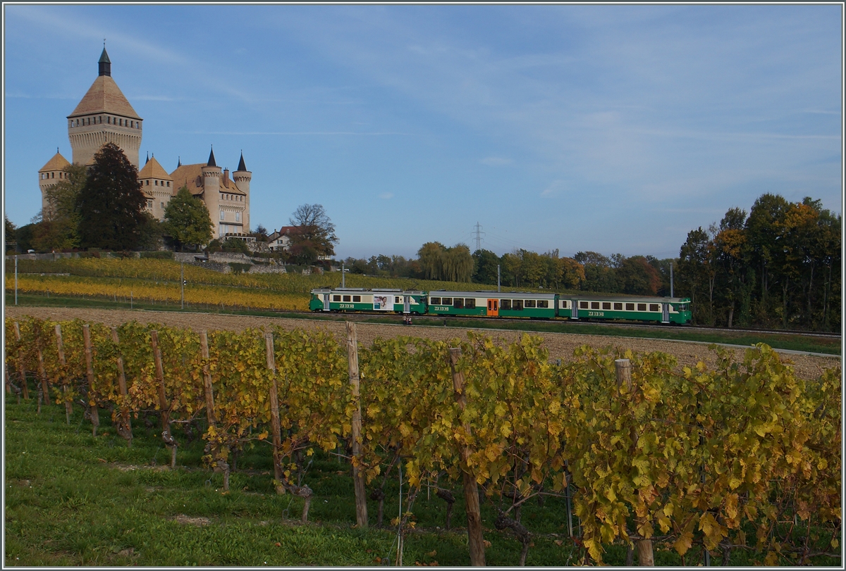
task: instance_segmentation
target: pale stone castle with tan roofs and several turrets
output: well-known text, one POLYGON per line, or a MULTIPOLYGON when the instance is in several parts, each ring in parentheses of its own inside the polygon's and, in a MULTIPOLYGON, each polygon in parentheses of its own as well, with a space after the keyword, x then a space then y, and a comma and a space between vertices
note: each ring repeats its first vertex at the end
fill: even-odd
MULTIPOLYGON (((68 138, 74 163, 91 166, 94 155, 102 145, 114 143, 124 151, 129 162, 140 166, 139 150, 144 119, 138 116, 123 92, 112 79, 112 62, 103 46, 97 62, 97 78, 68 118, 68 138)), ((60 182, 63 169, 70 163, 56 150, 56 155, 38 171, 41 207, 47 209, 47 188, 60 182)), ((228 169, 217 166, 214 150, 206 164, 183 165, 168 174, 156 157, 148 158, 138 172, 141 190, 147 198, 146 210, 158 220, 164 220, 164 210, 170 199, 187 187, 200 198, 211 216, 215 237, 244 237, 250 232, 250 180, 252 172, 244 165, 244 153, 238 170, 229 177, 228 169)))

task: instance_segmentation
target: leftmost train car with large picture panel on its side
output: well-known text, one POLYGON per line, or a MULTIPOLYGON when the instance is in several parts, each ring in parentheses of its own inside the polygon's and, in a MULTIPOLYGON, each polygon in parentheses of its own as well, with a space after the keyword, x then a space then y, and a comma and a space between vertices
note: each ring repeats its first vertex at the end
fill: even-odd
POLYGON ((399 289, 321 287, 311 290, 313 312, 426 313, 426 292, 399 289))

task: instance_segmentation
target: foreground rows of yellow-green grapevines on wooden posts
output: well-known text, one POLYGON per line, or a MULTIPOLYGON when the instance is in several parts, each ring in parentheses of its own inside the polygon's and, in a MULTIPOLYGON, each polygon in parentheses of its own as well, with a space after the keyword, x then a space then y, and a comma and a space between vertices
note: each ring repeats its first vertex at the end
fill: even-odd
POLYGON ((133 422, 155 414, 173 465, 173 427, 199 421, 204 463, 224 485, 232 454, 264 443, 277 493, 305 499, 304 521, 311 491, 300 476, 318 449, 349 461, 356 501, 379 501, 380 519, 379 491, 401 468, 404 534, 417 492, 434 486, 449 502, 463 489, 475 563, 484 551, 473 552, 483 541, 473 501, 496 507, 484 523, 512 530, 525 561, 532 530, 520 506, 545 496, 571 505, 582 563, 621 543, 650 563, 655 542, 683 563, 694 546, 723 564, 736 551, 768 565, 839 561, 839 369, 805 381, 766 345, 677 372, 662 353, 587 346, 549 362, 529 335, 507 346, 469 334, 365 347, 349 331, 338 344, 320 330, 7 319, 6 387, 84 405, 95 434, 112 423, 128 446, 133 422), (21 383, 27 371, 36 386, 21 383))

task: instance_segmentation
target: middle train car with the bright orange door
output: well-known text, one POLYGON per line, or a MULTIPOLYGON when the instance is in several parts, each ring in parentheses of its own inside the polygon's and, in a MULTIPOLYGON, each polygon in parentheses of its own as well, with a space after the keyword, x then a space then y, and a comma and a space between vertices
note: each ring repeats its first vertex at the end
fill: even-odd
POLYGON ((477 317, 555 317, 558 294, 525 291, 430 291, 429 315, 475 315, 477 317))

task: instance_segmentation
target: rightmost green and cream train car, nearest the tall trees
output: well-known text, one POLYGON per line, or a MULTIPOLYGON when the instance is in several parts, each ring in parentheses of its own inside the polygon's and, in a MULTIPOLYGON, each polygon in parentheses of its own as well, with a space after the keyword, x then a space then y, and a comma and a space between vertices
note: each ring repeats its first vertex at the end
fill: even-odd
POLYGON ((558 317, 688 324, 690 323, 690 298, 561 294, 558 296, 558 317))

